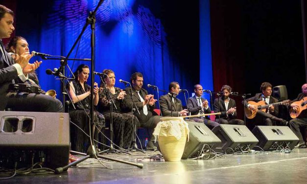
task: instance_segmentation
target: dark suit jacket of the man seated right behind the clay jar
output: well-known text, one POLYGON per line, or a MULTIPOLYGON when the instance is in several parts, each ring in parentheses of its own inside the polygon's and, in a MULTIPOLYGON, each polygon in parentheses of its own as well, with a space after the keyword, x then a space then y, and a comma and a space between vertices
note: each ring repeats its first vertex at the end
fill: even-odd
POLYGON ((171 97, 169 94, 165 94, 160 97, 160 108, 163 116, 170 116, 178 117, 179 112, 183 110, 181 100, 178 98, 174 98, 174 103, 172 102, 172 106, 170 105, 171 97), (171 109, 173 113, 171 113, 171 109))

